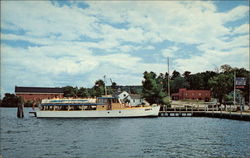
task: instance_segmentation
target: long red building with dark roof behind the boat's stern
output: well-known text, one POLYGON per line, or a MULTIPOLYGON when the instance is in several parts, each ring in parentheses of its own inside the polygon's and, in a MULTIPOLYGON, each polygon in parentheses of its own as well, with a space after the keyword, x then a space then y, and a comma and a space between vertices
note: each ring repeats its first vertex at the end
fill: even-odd
POLYGON ((16 96, 20 96, 24 101, 41 100, 47 98, 63 98, 62 88, 52 87, 15 87, 16 96))

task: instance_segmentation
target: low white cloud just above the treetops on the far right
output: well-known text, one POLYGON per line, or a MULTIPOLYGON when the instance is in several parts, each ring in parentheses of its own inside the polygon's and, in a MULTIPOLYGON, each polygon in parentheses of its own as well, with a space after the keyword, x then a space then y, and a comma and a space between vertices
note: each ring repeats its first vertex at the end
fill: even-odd
POLYGON ((232 67, 245 67, 249 65, 249 49, 235 48, 230 51, 210 50, 202 55, 193 55, 186 59, 175 59, 173 64, 177 70, 192 73, 214 70, 214 66, 230 63, 232 67))

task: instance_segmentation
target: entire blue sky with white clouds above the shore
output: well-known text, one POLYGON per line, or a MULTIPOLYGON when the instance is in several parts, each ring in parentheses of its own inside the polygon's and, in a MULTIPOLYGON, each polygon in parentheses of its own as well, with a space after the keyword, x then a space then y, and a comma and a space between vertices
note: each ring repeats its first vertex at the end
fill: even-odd
POLYGON ((249 1, 1 1, 1 94, 249 70, 249 1))

